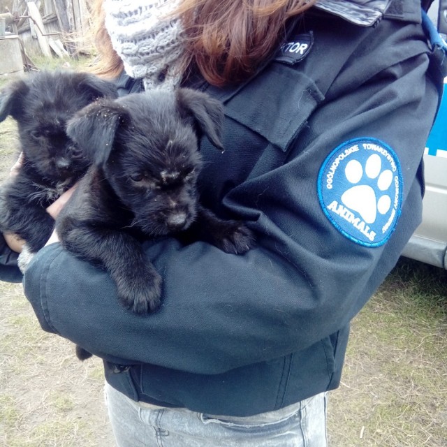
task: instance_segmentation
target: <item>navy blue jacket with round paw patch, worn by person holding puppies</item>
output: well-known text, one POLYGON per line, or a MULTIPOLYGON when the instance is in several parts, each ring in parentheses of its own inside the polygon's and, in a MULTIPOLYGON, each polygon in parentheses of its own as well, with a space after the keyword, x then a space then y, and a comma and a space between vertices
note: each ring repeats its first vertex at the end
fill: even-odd
POLYGON ((247 221, 257 247, 145 242, 163 305, 138 316, 52 244, 24 276, 42 328, 103 358, 133 400, 248 416, 336 388, 349 322, 421 218, 443 73, 420 2, 404 6, 374 27, 312 8, 243 85, 187 80, 225 104, 226 151, 201 142, 203 202, 247 221))

